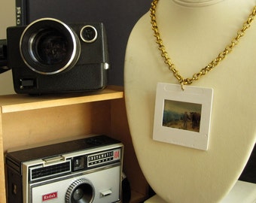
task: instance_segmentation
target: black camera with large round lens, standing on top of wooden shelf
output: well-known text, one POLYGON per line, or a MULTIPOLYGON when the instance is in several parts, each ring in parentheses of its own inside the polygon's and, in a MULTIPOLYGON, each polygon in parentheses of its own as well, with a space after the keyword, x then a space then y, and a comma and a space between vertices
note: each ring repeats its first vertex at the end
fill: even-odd
POLYGON ((17 93, 84 92, 107 85, 108 46, 102 23, 42 18, 9 27, 7 56, 17 93))

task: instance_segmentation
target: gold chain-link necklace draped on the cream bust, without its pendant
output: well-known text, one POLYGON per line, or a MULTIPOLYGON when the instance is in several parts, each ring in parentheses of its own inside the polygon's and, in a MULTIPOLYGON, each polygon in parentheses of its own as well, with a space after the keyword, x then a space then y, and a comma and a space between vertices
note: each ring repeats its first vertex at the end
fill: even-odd
POLYGON ((157 20, 156 20, 156 8, 157 3, 159 0, 154 0, 151 3, 151 24, 152 29, 154 30, 154 37, 157 39, 156 42, 158 44, 158 49, 161 51, 161 56, 164 59, 164 62, 166 65, 168 65, 169 71, 172 71, 173 75, 176 77, 178 82, 181 84, 181 89, 184 90, 184 85, 190 85, 195 80, 199 80, 201 76, 207 74, 209 71, 212 70, 212 68, 215 68, 216 65, 221 62, 225 56, 227 56, 228 53, 233 50, 233 47, 235 47, 236 44, 238 44, 239 39, 245 34, 246 29, 248 29, 251 26, 252 20, 254 20, 254 17, 256 15, 256 6, 254 6, 253 11, 251 14, 249 14, 248 19, 243 23, 242 29, 239 29, 239 31, 236 34, 236 38, 233 38, 230 44, 225 47, 224 51, 218 54, 218 56, 212 60, 208 65, 206 65, 205 68, 202 68, 198 73, 194 74, 192 77, 184 78, 179 74, 177 68, 173 64, 172 60, 169 58, 168 53, 166 52, 166 47, 163 45, 163 40, 160 38, 160 33, 158 31, 157 27, 157 20))

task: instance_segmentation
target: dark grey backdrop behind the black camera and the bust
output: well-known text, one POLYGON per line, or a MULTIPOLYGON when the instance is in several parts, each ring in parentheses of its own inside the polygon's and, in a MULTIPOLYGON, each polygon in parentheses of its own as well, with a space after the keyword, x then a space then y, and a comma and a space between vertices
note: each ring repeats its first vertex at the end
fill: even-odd
MULTIPOLYGON (((20 1, 23 0, 17 0, 20 1)), ((108 84, 120 86, 123 86, 123 63, 130 32, 150 6, 151 0, 23 1, 23 8, 26 9, 25 24, 41 17, 54 17, 65 23, 104 23, 111 62, 108 84)))

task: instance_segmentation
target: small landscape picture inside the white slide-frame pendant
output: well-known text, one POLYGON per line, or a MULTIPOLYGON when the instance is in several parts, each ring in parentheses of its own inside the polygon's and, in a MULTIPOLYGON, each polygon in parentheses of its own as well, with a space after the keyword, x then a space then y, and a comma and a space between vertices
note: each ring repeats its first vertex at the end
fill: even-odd
POLYGON ((164 100, 164 127, 200 132, 202 105, 189 102, 164 100))

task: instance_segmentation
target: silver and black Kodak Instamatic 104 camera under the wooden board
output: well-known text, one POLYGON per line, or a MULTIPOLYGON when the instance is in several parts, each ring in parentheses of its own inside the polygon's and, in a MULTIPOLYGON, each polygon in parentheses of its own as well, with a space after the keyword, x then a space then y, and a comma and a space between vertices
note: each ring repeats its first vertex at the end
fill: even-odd
POLYGON ((123 144, 105 135, 9 152, 8 203, 121 200, 123 144))

